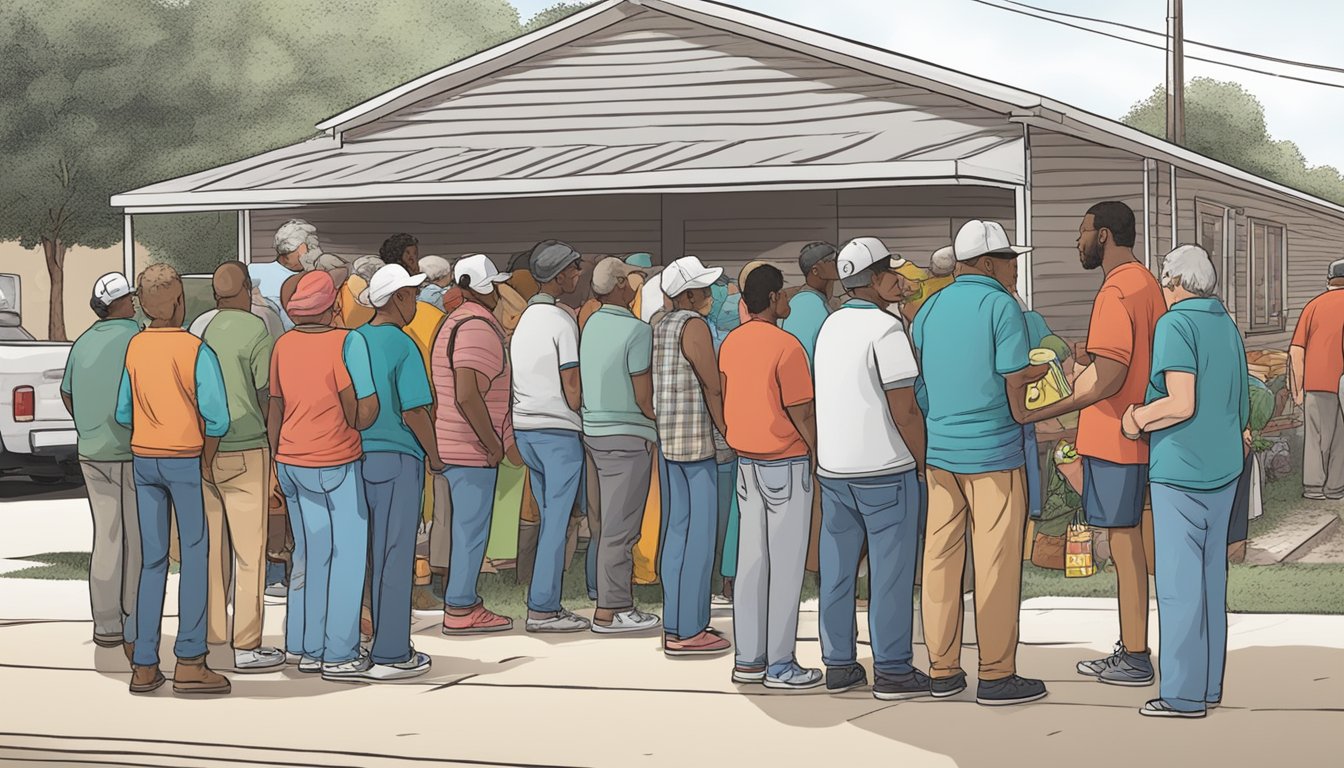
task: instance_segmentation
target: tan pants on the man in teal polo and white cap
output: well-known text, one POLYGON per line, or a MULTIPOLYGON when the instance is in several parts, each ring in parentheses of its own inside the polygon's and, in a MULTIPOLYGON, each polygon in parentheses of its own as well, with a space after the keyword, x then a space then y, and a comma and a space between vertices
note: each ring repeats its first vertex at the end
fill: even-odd
POLYGON ((980 679, 1017 671, 1017 613, 1027 529, 1024 469, 954 475, 929 468, 929 525, 925 533, 923 607, 929 674, 949 678, 961 670, 962 574, 966 529, 976 570, 976 639, 980 679))

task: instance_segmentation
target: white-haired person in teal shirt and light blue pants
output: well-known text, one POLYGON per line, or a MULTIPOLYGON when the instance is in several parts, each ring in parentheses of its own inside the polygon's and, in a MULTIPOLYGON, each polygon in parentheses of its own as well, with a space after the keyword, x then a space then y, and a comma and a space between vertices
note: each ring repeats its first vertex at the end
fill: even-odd
POLYGON ((1204 717, 1223 697, 1227 529, 1250 449, 1246 348, 1214 295, 1204 249, 1168 254, 1160 282, 1168 311, 1153 334, 1146 402, 1121 421, 1126 437, 1150 444, 1161 690, 1140 713, 1204 717))

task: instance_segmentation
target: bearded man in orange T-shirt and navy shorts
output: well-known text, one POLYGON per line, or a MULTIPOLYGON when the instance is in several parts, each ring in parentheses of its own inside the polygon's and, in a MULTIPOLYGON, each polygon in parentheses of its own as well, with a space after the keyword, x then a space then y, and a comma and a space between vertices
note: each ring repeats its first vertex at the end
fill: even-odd
MULTIPOLYGON (((1161 286, 1134 258, 1134 211, 1105 202, 1089 208, 1078 227, 1083 269, 1103 269, 1087 328, 1091 364, 1062 402, 1032 412, 1034 421, 1082 410, 1078 453, 1083 457, 1083 511, 1087 523, 1107 529, 1120 597, 1120 643, 1105 659, 1078 663, 1078 673, 1103 683, 1153 682, 1148 650, 1148 557, 1144 499, 1148 443, 1125 440, 1125 409, 1142 405, 1153 360, 1153 330, 1167 311, 1161 286)), ((1150 523, 1149 523, 1150 525, 1150 523)))

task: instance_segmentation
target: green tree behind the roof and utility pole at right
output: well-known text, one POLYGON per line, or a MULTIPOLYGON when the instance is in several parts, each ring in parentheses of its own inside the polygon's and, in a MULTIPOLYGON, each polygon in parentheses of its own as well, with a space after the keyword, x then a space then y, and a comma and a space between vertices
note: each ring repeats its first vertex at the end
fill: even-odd
MULTIPOLYGON (((1153 136, 1167 135, 1167 89, 1136 104, 1124 122, 1153 136)), ((1185 87, 1185 147, 1306 194, 1344 203, 1344 176, 1329 165, 1308 167, 1297 144, 1275 140, 1265 106, 1235 82, 1195 78, 1185 87)))

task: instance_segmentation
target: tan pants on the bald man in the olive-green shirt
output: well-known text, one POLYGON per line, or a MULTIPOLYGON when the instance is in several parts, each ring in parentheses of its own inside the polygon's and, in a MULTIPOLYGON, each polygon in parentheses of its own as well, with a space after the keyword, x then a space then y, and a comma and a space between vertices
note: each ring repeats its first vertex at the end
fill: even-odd
POLYGON ((270 452, 266 448, 215 456, 215 483, 206 483, 210 535, 207 639, 228 642, 228 576, 234 576, 234 648, 261 646, 262 593, 266 588, 270 452))

